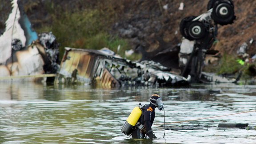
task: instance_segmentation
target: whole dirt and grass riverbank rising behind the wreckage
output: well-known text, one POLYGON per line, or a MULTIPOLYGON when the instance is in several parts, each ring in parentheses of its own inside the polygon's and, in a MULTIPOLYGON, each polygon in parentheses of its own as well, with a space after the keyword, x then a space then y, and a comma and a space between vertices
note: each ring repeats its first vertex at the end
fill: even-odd
MULTIPOLYGON (((0 2, 6 6, 1 7, 3 32, 11 4, 6 0, 0 2)), ((206 12, 208 1, 184 1, 183 10, 179 10, 179 0, 29 0, 20 3, 36 32, 52 31, 56 36, 60 57, 64 47, 107 47, 128 59, 139 60, 142 51, 145 59, 158 60, 160 57, 154 57, 156 53, 174 50, 181 42, 180 21, 191 13, 198 16, 206 12), (125 51, 130 49, 135 53, 125 56, 125 51)), ((232 75, 242 70, 248 76, 255 76, 254 62, 249 65, 236 62, 240 59, 236 53, 240 45, 256 40, 255 4, 255 0, 234 1, 237 18, 232 25, 219 26, 218 41, 211 48, 220 51, 220 60, 206 66, 205 71, 232 75), (246 72, 250 69, 252 71, 246 72)), ((249 46, 247 53, 251 58, 255 55, 256 43, 249 46)))

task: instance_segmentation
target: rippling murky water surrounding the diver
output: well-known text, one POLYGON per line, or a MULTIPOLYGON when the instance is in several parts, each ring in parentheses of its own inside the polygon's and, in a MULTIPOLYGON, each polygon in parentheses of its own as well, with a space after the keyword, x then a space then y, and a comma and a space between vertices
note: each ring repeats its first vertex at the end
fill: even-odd
POLYGON ((255 144, 256 112, 229 115, 255 108, 256 85, 250 84, 107 89, 0 83, 0 143, 255 144), (165 112, 156 110, 152 127, 158 139, 133 140, 121 133, 132 109, 139 103, 148 104, 155 92, 165 103, 165 112), (167 127, 200 125, 207 129, 166 130, 164 136, 164 115, 167 127), (217 128, 224 122, 248 123, 249 127, 217 128))

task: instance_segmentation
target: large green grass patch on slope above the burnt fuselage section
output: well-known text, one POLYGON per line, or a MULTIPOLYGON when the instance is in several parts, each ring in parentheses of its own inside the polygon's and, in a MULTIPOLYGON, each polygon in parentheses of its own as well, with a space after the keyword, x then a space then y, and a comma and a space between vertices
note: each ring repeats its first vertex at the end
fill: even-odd
MULTIPOLYGON (((100 8, 63 9, 48 1, 47 9, 51 13, 52 24, 36 31, 49 32, 56 36, 60 43, 60 55, 64 47, 101 49, 109 48, 116 54, 124 57, 125 50, 131 49, 128 41, 108 33, 115 21, 115 11, 112 7, 107 10, 100 8), (117 48, 120 47, 119 51, 117 48)), ((98 6, 100 7, 100 5, 98 6)), ((139 54, 128 57, 131 60, 140 59, 139 54)))

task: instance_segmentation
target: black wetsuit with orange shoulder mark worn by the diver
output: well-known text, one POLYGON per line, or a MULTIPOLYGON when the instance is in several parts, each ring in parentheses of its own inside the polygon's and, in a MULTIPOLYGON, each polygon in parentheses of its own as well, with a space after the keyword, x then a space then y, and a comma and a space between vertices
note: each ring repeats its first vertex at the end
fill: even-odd
POLYGON ((142 115, 140 116, 139 122, 144 124, 146 127, 146 132, 141 132, 139 128, 135 128, 132 132, 133 139, 144 139, 145 134, 149 136, 149 138, 156 138, 152 133, 152 124, 155 119, 155 106, 152 104, 147 104, 143 108, 142 115))

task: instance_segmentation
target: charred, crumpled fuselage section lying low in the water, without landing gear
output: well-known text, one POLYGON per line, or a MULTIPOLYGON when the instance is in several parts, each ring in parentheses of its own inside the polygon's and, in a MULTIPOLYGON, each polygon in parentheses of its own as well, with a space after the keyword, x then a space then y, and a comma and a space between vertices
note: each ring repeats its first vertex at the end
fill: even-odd
POLYGON ((190 76, 184 78, 168 70, 153 61, 132 62, 104 50, 65 48, 55 83, 80 82, 107 87, 189 84, 190 76))

